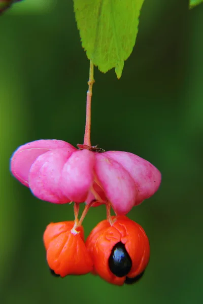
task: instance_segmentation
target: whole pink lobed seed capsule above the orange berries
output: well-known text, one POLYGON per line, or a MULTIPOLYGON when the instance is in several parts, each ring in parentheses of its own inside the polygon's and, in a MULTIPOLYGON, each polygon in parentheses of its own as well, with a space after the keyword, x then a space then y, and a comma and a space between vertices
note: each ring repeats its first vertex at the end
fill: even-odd
POLYGON ((41 200, 96 205, 108 201, 117 215, 150 198, 161 182, 159 170, 137 155, 77 149, 55 139, 20 146, 11 158, 11 172, 41 200))

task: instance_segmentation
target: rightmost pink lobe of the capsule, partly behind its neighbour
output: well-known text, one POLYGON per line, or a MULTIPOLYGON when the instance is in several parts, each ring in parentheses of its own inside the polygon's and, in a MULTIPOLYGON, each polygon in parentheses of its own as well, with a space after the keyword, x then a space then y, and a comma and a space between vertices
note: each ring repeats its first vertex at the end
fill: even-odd
POLYGON ((107 151, 104 154, 119 162, 136 183, 138 196, 134 205, 142 203, 158 190, 161 173, 151 163, 137 155, 123 151, 107 151))

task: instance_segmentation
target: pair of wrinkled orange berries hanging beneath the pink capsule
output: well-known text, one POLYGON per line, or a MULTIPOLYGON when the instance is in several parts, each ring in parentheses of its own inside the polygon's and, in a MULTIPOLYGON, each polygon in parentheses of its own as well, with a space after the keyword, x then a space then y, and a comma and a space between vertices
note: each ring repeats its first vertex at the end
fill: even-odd
POLYGON ((65 277, 91 272, 116 285, 137 282, 150 256, 145 231, 124 215, 98 223, 86 242, 79 223, 50 223, 44 244, 52 274, 65 277))

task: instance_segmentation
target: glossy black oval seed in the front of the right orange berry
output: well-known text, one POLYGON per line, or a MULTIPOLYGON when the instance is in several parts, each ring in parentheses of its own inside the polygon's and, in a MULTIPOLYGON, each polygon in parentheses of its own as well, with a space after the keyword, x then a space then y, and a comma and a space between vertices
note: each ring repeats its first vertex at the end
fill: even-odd
POLYGON ((121 242, 117 243, 109 257, 109 268, 111 272, 121 278, 126 276, 132 267, 132 261, 125 249, 125 245, 121 242))

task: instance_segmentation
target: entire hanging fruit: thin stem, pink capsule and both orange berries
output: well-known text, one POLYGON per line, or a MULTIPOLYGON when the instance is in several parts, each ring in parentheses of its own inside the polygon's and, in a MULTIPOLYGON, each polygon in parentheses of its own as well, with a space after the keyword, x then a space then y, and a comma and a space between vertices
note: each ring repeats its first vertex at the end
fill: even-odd
POLYGON ((132 284, 145 272, 150 247, 142 227, 125 215, 158 190, 161 173, 137 155, 91 145, 93 83, 90 61, 83 144, 76 148, 55 139, 26 143, 14 152, 11 172, 41 200, 75 202, 75 221, 51 223, 44 233, 52 274, 65 277, 91 272, 112 284, 132 284), (78 220, 80 203, 86 206, 78 220), (101 204, 106 204, 107 220, 98 223, 85 242, 82 221, 91 206, 101 204))

